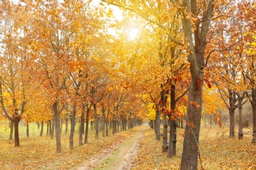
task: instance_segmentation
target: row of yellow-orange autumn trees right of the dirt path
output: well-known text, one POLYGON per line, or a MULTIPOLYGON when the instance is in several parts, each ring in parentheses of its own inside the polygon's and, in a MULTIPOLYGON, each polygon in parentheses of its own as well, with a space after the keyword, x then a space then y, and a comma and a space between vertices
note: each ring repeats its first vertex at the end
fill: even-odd
MULTIPOLYGON (((188 105, 181 169, 197 169, 202 109, 209 111, 210 97, 218 97, 211 102, 217 104, 211 112, 216 112, 215 106, 224 108, 223 105, 229 110, 230 137, 234 137, 236 108, 240 109, 242 122, 245 97, 255 108, 255 4, 249 1, 104 2, 136 14, 148 23, 148 31, 156 36, 155 54, 158 54, 161 81, 157 84, 158 91, 149 93, 156 109, 156 139, 160 139, 160 112, 163 112, 163 150, 167 144, 167 115, 170 120, 168 156, 175 155, 175 119, 183 116, 179 102, 184 100, 188 105), (221 97, 213 95, 203 99, 203 84, 214 87, 208 95, 219 92, 221 97), (183 98, 186 88, 187 101, 183 98)), ((255 117, 253 109, 253 143, 255 117)), ((240 124, 240 139, 241 127, 240 124)))

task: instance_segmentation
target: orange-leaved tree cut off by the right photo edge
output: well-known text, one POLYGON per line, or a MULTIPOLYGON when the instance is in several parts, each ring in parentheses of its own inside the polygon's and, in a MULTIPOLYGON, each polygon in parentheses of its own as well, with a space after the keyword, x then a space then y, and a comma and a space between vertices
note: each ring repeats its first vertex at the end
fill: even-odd
POLYGON ((243 56, 245 56, 244 76, 245 84, 248 86, 247 97, 251 103, 253 110, 253 139, 252 143, 256 143, 256 72, 255 72, 255 3, 242 1, 238 4, 238 17, 244 21, 244 32, 242 38, 244 44, 240 46, 243 56))

